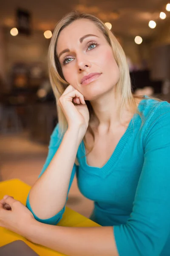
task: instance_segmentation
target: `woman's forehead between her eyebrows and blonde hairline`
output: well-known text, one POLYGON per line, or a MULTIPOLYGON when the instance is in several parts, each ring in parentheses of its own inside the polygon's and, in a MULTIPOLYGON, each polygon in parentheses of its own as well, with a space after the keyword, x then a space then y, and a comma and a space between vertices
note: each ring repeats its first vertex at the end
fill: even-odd
POLYGON ((62 48, 69 48, 69 42, 80 44, 79 38, 87 34, 102 37, 102 32, 93 21, 87 19, 73 21, 60 32, 57 40, 57 52, 62 48))

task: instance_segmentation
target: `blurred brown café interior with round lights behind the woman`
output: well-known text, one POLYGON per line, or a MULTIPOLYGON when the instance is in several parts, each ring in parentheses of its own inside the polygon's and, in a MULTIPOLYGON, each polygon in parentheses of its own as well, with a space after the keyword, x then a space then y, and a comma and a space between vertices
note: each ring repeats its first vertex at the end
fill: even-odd
MULTIPOLYGON (((0 181, 33 185, 48 153, 57 111, 47 51, 57 21, 72 11, 99 17, 127 56, 136 94, 170 102, 170 1, 0 0, 0 181)), ((67 206, 89 217, 76 177, 67 206)))

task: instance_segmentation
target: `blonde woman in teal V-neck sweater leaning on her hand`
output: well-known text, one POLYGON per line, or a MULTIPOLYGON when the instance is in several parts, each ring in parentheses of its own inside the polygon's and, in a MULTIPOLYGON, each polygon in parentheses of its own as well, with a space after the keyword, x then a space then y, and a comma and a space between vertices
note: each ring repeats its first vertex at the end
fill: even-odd
POLYGON ((59 21, 48 60, 59 124, 30 211, 5 196, 0 225, 71 256, 169 255, 170 104, 132 95, 122 47, 92 15, 59 21), (49 225, 61 220, 75 173, 102 227, 49 225))

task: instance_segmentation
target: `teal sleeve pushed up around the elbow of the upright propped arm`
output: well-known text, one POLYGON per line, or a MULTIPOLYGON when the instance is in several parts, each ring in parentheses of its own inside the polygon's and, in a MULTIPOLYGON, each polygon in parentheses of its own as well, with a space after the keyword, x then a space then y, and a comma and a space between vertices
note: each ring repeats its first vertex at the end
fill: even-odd
MULTIPOLYGON (((51 134, 50 144, 48 146, 48 149, 49 149, 48 150, 48 156, 47 156, 45 164, 42 168, 42 171, 41 171, 40 175, 38 176, 39 178, 45 172, 49 163, 53 159, 54 154, 57 152, 57 149, 59 148, 59 145, 60 145, 61 141, 62 141, 62 138, 59 137, 59 125, 57 124, 56 127, 54 128, 53 133, 51 134)), ((69 187, 68 187, 68 193, 70 191, 71 184, 73 182, 76 169, 77 169, 77 166, 74 163, 73 170, 72 170, 72 173, 71 173, 71 179, 70 179, 70 183, 69 183, 69 187)), ((68 200, 68 194, 67 194, 67 200, 68 200)), ((66 202, 67 202, 67 200, 66 200, 66 202)), ((65 202, 65 205, 66 205, 66 202, 65 202)), ((56 215, 54 215, 53 217, 48 218, 48 219, 40 219, 34 214, 33 210, 31 209, 31 205, 30 205, 30 202, 29 202, 29 194, 28 194, 28 197, 27 197, 27 200, 26 200, 26 207, 28 207, 28 209, 32 212, 32 214, 34 215, 34 218, 37 221, 40 221, 40 222, 46 223, 46 224, 53 224, 53 225, 56 225, 62 219, 62 215, 65 212, 65 206, 64 206, 63 209, 60 212, 58 212, 56 215)))

